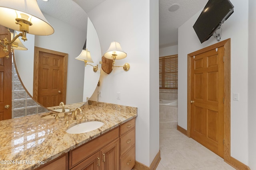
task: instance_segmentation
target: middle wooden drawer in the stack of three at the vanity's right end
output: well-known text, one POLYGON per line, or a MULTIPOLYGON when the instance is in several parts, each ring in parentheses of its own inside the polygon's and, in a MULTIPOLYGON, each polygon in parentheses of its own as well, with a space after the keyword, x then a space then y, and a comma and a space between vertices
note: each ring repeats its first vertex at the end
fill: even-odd
POLYGON ((120 137, 120 155, 123 155, 127 150, 135 145, 135 128, 122 137, 120 137))

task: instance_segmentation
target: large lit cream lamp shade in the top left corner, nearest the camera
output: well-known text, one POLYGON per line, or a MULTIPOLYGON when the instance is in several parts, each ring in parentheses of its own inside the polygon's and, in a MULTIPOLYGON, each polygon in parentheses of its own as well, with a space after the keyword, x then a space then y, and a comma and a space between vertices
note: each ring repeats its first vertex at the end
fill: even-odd
POLYGON ((36 0, 0 0, 0 25, 20 31, 16 18, 32 23, 28 33, 34 35, 51 35, 53 27, 42 14, 36 0))

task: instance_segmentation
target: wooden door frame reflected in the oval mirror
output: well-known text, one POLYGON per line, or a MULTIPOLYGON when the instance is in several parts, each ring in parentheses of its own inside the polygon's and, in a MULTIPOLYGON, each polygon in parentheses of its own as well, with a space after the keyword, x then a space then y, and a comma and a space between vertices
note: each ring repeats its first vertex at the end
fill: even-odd
POLYGON ((44 49, 40 47, 35 47, 34 49, 34 81, 33 81, 33 98, 38 100, 38 71, 39 71, 39 52, 51 53, 63 56, 63 86, 62 86, 62 96, 63 102, 66 102, 66 91, 67 91, 67 75, 68 75, 68 54, 58 51, 53 51, 49 49, 44 49))

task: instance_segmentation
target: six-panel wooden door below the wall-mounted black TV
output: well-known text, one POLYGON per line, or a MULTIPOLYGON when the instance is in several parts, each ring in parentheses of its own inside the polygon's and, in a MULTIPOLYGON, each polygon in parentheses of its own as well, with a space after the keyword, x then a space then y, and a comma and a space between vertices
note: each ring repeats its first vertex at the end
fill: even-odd
POLYGON ((224 47, 195 55, 190 63, 191 137, 224 155, 224 47))

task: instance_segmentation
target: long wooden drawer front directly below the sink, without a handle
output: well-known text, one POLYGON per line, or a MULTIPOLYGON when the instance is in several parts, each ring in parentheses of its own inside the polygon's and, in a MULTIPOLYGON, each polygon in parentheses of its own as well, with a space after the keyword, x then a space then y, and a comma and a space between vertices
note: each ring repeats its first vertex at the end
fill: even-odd
POLYGON ((69 168, 73 168, 75 165, 86 159, 94 152, 100 150, 108 143, 114 141, 119 136, 119 128, 115 128, 100 137, 89 141, 88 143, 70 151, 69 156, 69 168))

